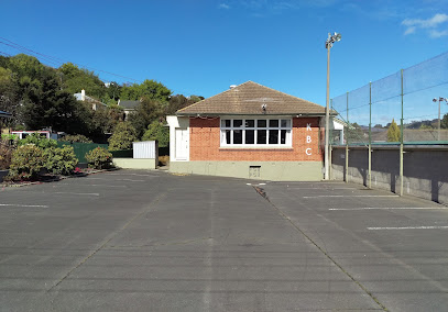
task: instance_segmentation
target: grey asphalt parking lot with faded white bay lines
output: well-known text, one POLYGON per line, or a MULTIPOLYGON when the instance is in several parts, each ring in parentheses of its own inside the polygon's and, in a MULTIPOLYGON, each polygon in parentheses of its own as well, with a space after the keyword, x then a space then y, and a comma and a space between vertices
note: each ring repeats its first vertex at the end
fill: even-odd
POLYGON ((448 210, 120 170, 0 190, 1 311, 447 311, 448 210))

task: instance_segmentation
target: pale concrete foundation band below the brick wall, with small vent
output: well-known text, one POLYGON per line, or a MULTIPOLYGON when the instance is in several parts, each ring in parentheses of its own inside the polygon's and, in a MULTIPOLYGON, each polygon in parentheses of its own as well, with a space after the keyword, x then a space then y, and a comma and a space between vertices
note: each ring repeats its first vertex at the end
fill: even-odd
POLYGON ((321 161, 171 161, 170 171, 272 181, 320 181, 321 161))

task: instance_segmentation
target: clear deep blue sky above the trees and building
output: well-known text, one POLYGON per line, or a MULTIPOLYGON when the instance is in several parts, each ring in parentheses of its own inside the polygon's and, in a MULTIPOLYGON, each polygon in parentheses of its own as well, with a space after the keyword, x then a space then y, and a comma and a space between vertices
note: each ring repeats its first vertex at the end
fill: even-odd
POLYGON ((342 34, 331 98, 448 51, 447 0, 1 0, 1 11, 13 43, 105 81, 131 79, 99 70, 204 97, 252 80, 325 105, 328 32, 342 34))

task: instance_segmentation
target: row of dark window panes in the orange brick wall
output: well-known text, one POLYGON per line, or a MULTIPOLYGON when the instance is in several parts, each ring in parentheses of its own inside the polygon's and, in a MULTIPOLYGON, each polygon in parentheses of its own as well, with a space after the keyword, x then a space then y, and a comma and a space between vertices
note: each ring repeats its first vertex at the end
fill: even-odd
POLYGON ((221 120, 221 146, 292 146, 291 119, 221 120))

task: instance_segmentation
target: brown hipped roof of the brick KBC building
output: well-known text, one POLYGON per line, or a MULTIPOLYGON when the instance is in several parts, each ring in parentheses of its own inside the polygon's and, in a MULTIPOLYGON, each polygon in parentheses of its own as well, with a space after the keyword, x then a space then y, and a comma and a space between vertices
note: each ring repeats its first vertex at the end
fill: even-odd
POLYGON ((222 93, 201 100, 176 112, 178 115, 222 115, 222 114, 313 114, 324 115, 325 108, 247 81, 222 93), (262 105, 265 104, 265 111, 262 105))

